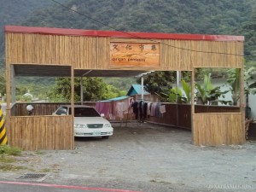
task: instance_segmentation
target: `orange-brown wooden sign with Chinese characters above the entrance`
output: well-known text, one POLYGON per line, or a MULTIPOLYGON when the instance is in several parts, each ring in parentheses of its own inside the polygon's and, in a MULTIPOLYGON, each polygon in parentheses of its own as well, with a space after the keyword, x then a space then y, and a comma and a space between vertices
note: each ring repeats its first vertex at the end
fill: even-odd
POLYGON ((160 67, 159 43, 110 43, 112 67, 160 67))

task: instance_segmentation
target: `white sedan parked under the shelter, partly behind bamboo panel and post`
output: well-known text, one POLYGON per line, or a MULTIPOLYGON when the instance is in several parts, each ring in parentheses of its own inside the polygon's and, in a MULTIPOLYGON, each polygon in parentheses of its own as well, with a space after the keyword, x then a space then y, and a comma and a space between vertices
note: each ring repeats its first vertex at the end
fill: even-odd
MULTIPOLYGON (((71 115, 71 105, 58 108, 53 115, 71 115)), ((74 106, 74 137, 102 137, 113 135, 113 127, 95 108, 74 106)))

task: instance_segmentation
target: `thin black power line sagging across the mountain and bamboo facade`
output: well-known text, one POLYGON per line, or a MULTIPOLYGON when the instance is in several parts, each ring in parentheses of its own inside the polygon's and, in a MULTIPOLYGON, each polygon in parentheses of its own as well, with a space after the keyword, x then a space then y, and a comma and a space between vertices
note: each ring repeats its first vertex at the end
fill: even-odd
MULTIPOLYGON (((90 17, 89 15, 82 14, 82 13, 80 13, 80 12, 77 11, 77 10, 70 9, 70 8, 68 8, 66 5, 64 5, 64 4, 62 4, 62 3, 59 3, 59 2, 57 2, 57 1, 55 1, 55 0, 50 0, 50 1, 52 1, 52 2, 54 2, 54 3, 56 3, 56 4, 59 4, 59 5, 61 5, 61 7, 65 8, 65 9, 68 9, 68 10, 70 10, 70 11, 73 11, 73 12, 76 13, 76 14, 79 14, 79 15, 82 15, 82 16, 84 16, 84 17, 87 17, 87 18, 89 18, 90 20, 94 20, 94 21, 96 21, 96 23, 99 23, 99 24, 101 24, 102 26, 108 26, 110 29, 113 29, 113 30, 116 31, 116 32, 122 32, 122 33, 128 34, 129 36, 134 37, 134 38, 142 38, 142 37, 139 37, 139 36, 137 36, 137 35, 132 34, 131 32, 124 32, 124 31, 121 31, 121 30, 119 30, 119 29, 117 29, 117 28, 115 28, 115 27, 113 27, 113 26, 109 26, 108 24, 103 23, 103 22, 100 21, 100 20, 96 20, 96 19, 90 17)), ((215 51, 204 51, 204 50, 186 49, 186 48, 174 46, 174 45, 172 45, 172 44, 165 44, 165 43, 162 43, 162 42, 153 40, 153 39, 149 39, 149 40, 152 41, 152 42, 154 42, 154 43, 164 44, 164 45, 166 45, 166 46, 168 46, 168 47, 172 47, 172 48, 175 48, 175 49, 188 50, 188 51, 192 51, 192 52, 208 53, 208 54, 219 54, 219 55, 234 55, 234 56, 242 56, 242 57, 244 56, 244 55, 239 55, 239 54, 229 54, 229 53, 221 53, 221 52, 215 52, 215 51)))

